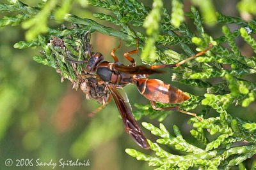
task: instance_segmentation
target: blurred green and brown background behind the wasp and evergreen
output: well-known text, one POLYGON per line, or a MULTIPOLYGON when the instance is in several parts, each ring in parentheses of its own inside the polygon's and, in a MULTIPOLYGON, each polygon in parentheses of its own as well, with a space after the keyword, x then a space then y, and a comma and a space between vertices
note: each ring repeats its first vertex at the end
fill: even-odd
MULTIPOLYGON (((24 1, 24 3, 33 5, 38 1, 24 1)), ((215 6, 217 11, 234 17, 239 16, 238 11, 235 10, 236 3, 237 1, 223 0, 216 1, 215 6)), ((151 6, 152 1, 145 1, 145 4, 151 6)), ((164 1, 164 4, 170 10, 170 2, 164 1)), ((190 1, 184 1, 184 4, 185 11, 189 11, 190 1)), ((88 6, 84 10, 79 6, 73 6, 72 13, 79 17, 93 18, 94 11, 99 9, 88 6)), ((1 14, 1 17, 3 16, 1 14)), ((96 21, 109 25, 100 20, 96 21)), ((191 20, 187 22, 193 23, 191 20)), ((109 26, 113 27, 113 25, 109 26)), ((217 38, 222 34, 220 26, 207 27, 206 32, 217 38)), ((237 25, 229 25, 229 27, 232 31, 239 28, 237 25)), ((193 25, 191 30, 195 32, 193 25)), ((34 164, 36 159, 42 162, 51 160, 58 162, 60 159, 90 161, 88 167, 67 166, 64 169, 153 169, 124 152, 125 148, 138 150, 140 148, 124 131, 115 103, 111 102, 95 117, 88 117, 88 113, 100 105, 95 101, 86 101, 83 92, 72 90, 70 81, 65 80, 61 83, 60 75, 51 67, 33 61, 33 55, 38 55, 40 49, 13 48, 14 43, 22 40, 24 40, 24 30, 20 27, 0 28, 0 169, 52 169, 52 166, 17 167, 16 159, 33 159, 34 164), (12 159, 13 166, 6 167, 4 165, 6 159, 12 159)), ((95 32, 92 34, 93 50, 103 53, 106 60, 112 60, 109 56, 111 50, 118 44, 117 40, 95 32)), ((253 55, 252 49, 242 39, 237 39, 237 45, 243 55, 253 55)), ((122 56, 122 53, 130 50, 133 48, 126 47, 123 43, 116 54, 122 56)), ((134 58, 140 63, 139 56, 135 55, 134 58)), ((125 60, 121 61, 128 63, 125 60)), ((245 78, 256 82, 255 74, 245 78)), ((164 74, 161 79, 172 83, 170 74, 164 74)), ((172 85, 195 95, 205 93, 205 89, 189 89, 177 83, 172 85)), ((148 103, 134 85, 124 89, 132 106, 134 103, 148 103)), ((196 111, 199 110, 195 110, 195 113, 196 111)), ((256 121, 255 102, 248 108, 234 106, 228 111, 236 117, 256 121)), ((214 113, 210 116, 214 116, 214 113)), ((189 135, 191 125, 187 124, 189 118, 188 115, 173 112, 163 123, 169 129, 172 129, 174 124, 178 125, 183 136, 193 143, 193 138, 189 135)), ((140 123, 141 121, 159 124, 156 120, 145 117, 140 123)), ((144 131, 146 136, 154 141, 154 137, 145 129, 144 131)), ((63 168, 56 166, 54 169, 63 168)))

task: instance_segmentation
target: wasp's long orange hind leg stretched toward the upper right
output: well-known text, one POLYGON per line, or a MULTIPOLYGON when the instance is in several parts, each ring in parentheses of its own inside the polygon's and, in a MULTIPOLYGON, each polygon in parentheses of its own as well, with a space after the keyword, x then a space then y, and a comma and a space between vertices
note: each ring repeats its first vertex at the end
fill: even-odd
POLYGON ((150 68, 151 69, 159 69, 159 68, 164 68, 164 67, 179 67, 180 65, 184 64, 185 62, 188 62, 189 60, 193 60, 196 57, 203 55, 204 53, 208 52, 211 48, 212 48, 212 44, 210 43, 208 48, 206 48, 204 51, 198 52, 198 53, 196 53, 196 55, 193 55, 193 56, 189 57, 188 59, 184 59, 184 60, 178 62, 177 64, 154 65, 154 66, 151 66, 150 68))

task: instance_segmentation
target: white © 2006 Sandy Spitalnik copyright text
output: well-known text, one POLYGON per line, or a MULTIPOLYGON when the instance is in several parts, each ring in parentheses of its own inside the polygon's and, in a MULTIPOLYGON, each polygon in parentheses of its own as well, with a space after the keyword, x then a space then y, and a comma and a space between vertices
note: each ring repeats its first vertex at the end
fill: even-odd
POLYGON ((38 166, 47 166, 52 167, 54 169, 55 167, 62 167, 63 169, 65 167, 77 167, 77 166, 90 166, 90 160, 65 160, 60 159, 58 161, 49 160, 44 161, 42 159, 6 159, 5 160, 5 166, 16 166, 16 167, 38 167, 38 166))

